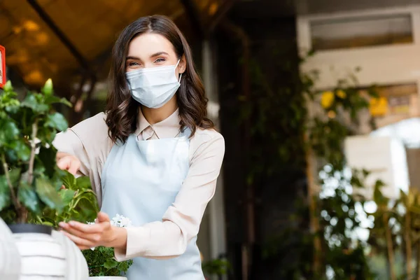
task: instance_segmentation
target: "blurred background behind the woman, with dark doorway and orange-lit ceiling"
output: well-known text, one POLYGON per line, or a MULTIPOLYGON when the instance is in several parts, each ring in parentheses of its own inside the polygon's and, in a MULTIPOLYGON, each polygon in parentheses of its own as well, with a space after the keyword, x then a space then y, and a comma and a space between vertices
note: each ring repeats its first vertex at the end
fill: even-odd
POLYGON ((225 137, 209 279, 420 279, 419 0, 0 0, 6 76, 52 78, 74 125, 153 14, 186 34, 225 137))

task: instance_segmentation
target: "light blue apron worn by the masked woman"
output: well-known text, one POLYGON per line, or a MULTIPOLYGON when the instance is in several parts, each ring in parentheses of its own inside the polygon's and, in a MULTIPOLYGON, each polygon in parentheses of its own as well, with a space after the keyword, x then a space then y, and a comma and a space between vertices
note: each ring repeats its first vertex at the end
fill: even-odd
MULTIPOLYGON (((102 211, 126 216, 133 226, 162 221, 188 173, 189 135, 186 129, 180 137, 139 141, 132 134, 124 145, 115 144, 102 172, 102 211)), ((203 280, 196 240, 177 258, 134 258, 127 278, 203 280)))

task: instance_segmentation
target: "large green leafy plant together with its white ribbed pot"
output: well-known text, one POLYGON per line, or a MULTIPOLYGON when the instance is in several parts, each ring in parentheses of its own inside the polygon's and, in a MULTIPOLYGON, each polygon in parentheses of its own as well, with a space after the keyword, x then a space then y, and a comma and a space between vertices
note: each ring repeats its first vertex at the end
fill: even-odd
POLYGON ((87 264, 77 246, 52 229, 54 219, 43 221, 44 215, 61 218, 66 204, 75 201, 74 193, 60 190, 68 174, 56 166, 52 141, 67 123, 53 111, 57 103, 70 105, 52 94, 51 80, 41 93, 28 92, 22 102, 10 81, 0 92, 0 217, 13 232, 20 255, 25 255, 21 280, 33 274, 87 278, 87 264))

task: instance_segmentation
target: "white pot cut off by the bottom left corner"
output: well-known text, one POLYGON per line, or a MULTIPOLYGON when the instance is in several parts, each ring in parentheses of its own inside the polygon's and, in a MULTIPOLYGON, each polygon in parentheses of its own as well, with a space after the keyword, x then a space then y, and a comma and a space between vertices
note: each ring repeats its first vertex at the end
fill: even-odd
POLYGON ((20 254, 12 232, 0 218, 0 279, 19 280, 20 254))

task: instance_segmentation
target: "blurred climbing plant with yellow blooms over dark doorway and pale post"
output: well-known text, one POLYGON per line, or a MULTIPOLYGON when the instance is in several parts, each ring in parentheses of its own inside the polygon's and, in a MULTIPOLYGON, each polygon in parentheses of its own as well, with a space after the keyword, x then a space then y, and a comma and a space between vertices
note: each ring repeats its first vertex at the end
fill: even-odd
MULTIPOLYGON (((276 73, 290 76, 290 62, 276 59, 279 52, 274 49, 272 54, 276 73)), ((337 80, 328 92, 314 88, 318 71, 302 73, 279 87, 272 87, 274 77, 267 78, 252 60, 249 71, 251 97, 244 98, 241 118, 253 120, 248 122, 251 142, 259 148, 248 156, 248 183, 263 186, 273 172, 289 170, 290 165, 305 172, 308 180, 308 193, 297 202, 286 230, 267 242, 266 261, 283 261, 281 255, 287 255, 281 263, 285 279, 372 279, 366 244, 353 234, 360 227, 356 205, 363 199, 351 187, 363 188, 366 172, 346 167, 344 139, 356 134, 368 97, 377 97, 374 85, 365 90, 367 95, 360 92, 360 69, 337 80), (265 145, 258 144, 261 139, 265 145)))

